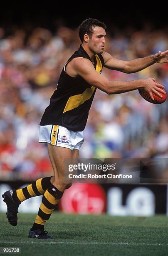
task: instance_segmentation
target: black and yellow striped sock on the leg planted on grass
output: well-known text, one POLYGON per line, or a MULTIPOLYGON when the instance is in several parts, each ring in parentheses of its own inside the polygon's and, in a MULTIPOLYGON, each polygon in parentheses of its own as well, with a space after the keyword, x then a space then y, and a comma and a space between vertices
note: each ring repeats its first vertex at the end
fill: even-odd
POLYGON ((50 215, 55 209, 55 205, 59 202, 63 192, 59 191, 53 184, 51 184, 42 197, 42 202, 32 226, 32 230, 44 229, 44 224, 49 220, 50 215))

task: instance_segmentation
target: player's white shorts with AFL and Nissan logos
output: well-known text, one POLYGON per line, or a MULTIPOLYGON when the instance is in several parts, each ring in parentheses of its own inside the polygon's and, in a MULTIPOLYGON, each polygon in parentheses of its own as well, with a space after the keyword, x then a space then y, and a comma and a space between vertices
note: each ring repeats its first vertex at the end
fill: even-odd
POLYGON ((47 142, 54 146, 79 150, 84 142, 84 136, 83 131, 69 131, 60 125, 40 125, 39 142, 47 142))

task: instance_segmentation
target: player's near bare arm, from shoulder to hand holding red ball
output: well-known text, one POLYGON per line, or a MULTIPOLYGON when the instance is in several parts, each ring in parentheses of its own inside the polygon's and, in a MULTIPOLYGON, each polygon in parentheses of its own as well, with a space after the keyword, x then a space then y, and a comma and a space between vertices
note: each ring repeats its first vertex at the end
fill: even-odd
POLYGON ((148 92, 152 99, 154 99, 153 92, 162 97, 159 92, 163 92, 161 88, 164 88, 164 86, 156 82, 154 78, 133 81, 109 81, 106 77, 96 72, 91 61, 84 58, 73 59, 72 68, 77 76, 83 77, 90 85, 99 88, 107 94, 129 92, 141 88, 148 92))

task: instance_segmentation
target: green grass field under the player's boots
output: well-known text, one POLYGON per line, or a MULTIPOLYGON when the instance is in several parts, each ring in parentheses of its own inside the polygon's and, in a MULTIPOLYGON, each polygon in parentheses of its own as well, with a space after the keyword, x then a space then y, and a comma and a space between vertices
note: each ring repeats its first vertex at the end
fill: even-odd
POLYGON ((53 240, 28 238, 35 214, 18 214, 12 227, 0 213, 0 247, 20 247, 20 255, 168 255, 168 218, 112 217, 53 213, 46 230, 53 240))

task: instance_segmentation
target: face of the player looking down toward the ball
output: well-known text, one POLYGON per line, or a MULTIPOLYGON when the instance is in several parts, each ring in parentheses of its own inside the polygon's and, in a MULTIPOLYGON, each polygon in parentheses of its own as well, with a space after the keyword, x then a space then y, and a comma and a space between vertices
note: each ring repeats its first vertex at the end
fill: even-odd
POLYGON ((104 28, 95 26, 93 29, 93 34, 92 37, 89 38, 89 49, 92 51, 94 54, 102 54, 104 51, 104 46, 105 46, 105 36, 106 36, 106 31, 104 28))

